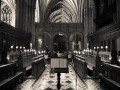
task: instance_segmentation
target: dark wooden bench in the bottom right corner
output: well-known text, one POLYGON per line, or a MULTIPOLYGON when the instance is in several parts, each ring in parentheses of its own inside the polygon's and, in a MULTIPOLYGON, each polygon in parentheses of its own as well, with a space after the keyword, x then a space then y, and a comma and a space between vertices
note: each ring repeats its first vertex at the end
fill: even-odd
POLYGON ((104 63, 99 74, 100 85, 106 85, 111 90, 120 90, 120 67, 104 63))

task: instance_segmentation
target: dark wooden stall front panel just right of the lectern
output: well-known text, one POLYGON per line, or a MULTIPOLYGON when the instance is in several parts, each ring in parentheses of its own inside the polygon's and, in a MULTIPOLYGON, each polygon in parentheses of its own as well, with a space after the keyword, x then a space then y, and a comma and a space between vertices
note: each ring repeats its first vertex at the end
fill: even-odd
POLYGON ((87 77, 87 63, 76 56, 74 56, 73 61, 74 61, 74 68, 77 74, 81 78, 87 77))

